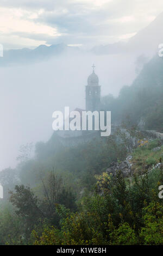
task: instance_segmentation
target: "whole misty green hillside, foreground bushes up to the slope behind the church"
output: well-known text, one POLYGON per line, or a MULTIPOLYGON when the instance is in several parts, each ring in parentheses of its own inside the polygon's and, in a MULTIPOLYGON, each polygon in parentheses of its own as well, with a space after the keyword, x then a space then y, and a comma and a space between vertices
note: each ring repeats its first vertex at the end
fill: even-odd
POLYGON ((162 140, 137 129, 162 131, 162 69, 155 56, 117 98, 103 97, 119 124, 111 136, 64 145, 54 132, 33 158, 23 147, 0 173, 1 245, 163 244, 162 140))

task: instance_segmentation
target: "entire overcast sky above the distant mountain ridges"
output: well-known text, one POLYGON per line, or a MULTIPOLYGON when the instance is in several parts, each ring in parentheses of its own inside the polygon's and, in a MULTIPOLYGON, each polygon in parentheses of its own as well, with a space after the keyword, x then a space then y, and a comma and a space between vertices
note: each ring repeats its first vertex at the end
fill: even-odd
POLYGON ((163 11, 162 0, 1 0, 4 48, 95 46, 128 39, 163 11))

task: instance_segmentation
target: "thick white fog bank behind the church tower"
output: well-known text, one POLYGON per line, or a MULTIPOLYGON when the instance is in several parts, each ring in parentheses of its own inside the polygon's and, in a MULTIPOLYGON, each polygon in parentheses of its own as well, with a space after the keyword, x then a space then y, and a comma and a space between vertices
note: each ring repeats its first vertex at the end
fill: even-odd
POLYGON ((118 95, 131 84, 136 56, 62 53, 47 62, 0 69, 0 169, 15 167, 22 144, 47 141, 53 133, 52 113, 85 108, 87 77, 96 65, 102 96, 118 95))

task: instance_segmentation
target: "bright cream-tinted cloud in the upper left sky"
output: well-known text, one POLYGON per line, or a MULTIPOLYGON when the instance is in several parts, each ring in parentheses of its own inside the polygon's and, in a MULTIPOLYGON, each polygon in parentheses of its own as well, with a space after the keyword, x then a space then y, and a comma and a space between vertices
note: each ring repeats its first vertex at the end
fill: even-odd
POLYGON ((0 35, 4 48, 36 47, 59 36, 54 27, 34 21, 41 12, 0 7, 0 35))

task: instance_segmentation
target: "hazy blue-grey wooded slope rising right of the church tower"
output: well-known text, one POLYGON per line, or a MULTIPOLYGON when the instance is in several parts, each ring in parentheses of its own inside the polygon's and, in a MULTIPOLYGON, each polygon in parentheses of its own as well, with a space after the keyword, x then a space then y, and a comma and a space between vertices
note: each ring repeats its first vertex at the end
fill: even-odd
POLYGON ((132 123, 144 123, 144 129, 162 132, 163 127, 163 59, 155 56, 145 64, 131 86, 123 87, 117 98, 103 98, 103 109, 112 111, 112 121, 120 123, 130 118, 132 123))

